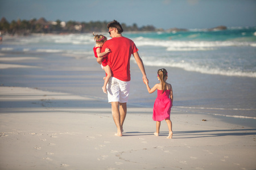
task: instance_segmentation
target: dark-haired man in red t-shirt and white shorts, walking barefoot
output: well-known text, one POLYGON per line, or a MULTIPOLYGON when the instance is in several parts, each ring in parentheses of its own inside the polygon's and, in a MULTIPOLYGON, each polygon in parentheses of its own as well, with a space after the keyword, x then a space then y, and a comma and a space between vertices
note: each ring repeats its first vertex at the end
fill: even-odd
MULTIPOLYGON (((122 36, 123 28, 119 22, 113 20, 108 24, 109 34, 112 39, 105 42, 101 52, 105 48, 111 50, 108 53, 108 65, 112 70, 112 77, 108 82, 108 100, 112 105, 112 116, 117 126, 115 135, 121 137, 123 131, 123 122, 127 113, 127 101, 130 91, 130 58, 133 54, 137 65, 142 73, 143 82, 148 82, 146 72, 138 49, 134 42, 122 36)), ((99 58, 99 57, 98 57, 99 58)), ((97 62, 101 64, 100 58, 97 62)))

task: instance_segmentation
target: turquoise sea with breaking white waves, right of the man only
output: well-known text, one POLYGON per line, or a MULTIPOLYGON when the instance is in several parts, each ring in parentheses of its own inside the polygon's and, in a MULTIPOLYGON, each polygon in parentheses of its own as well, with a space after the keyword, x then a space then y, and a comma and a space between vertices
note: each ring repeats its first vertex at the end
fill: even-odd
POLYGON ((256 78, 256 29, 127 34, 141 47, 146 65, 204 74, 256 78))

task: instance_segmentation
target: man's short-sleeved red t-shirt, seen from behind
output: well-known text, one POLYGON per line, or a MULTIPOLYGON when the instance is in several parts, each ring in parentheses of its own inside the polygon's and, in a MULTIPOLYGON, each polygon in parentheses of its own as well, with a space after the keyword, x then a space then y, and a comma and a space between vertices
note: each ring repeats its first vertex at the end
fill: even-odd
POLYGON ((104 43, 101 52, 105 52, 107 47, 111 50, 108 53, 108 65, 112 76, 124 82, 130 81, 131 54, 138 52, 134 42, 126 37, 114 37, 104 43))

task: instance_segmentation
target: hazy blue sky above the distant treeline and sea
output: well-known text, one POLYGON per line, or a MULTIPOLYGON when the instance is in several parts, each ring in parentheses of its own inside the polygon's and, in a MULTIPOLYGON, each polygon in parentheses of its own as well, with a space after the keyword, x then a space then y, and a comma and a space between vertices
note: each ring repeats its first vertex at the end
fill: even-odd
POLYGON ((0 18, 112 21, 138 27, 255 27, 255 0, 0 0, 0 18))

